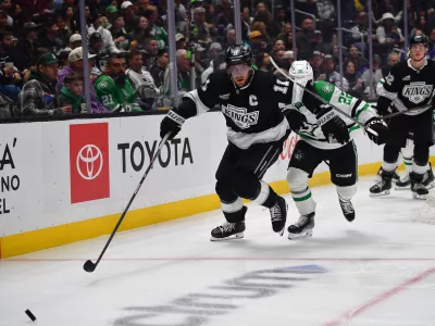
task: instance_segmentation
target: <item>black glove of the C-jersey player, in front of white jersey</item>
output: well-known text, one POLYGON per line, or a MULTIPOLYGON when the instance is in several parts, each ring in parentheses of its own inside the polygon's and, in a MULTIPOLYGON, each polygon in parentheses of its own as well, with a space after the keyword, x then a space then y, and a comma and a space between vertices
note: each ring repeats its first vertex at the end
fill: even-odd
POLYGON ((339 143, 349 141, 350 137, 346 123, 334 112, 331 105, 320 105, 315 117, 328 142, 335 142, 334 139, 339 143))

